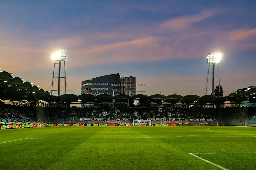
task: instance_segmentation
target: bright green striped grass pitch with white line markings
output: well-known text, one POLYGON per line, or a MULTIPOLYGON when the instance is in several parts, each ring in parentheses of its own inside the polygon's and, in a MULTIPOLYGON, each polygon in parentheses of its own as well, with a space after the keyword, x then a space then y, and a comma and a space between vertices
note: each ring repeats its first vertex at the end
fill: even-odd
POLYGON ((0 136, 0 169, 221 169, 189 153, 256 169, 253 127, 41 127, 0 136))

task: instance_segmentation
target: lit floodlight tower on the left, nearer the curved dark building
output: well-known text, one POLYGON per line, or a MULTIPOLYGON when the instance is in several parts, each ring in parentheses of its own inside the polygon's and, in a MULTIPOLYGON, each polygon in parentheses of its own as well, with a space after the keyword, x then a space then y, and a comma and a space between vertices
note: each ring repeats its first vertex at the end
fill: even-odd
POLYGON ((58 96, 60 95, 60 92, 63 92, 63 94, 67 94, 66 67, 65 67, 65 61, 67 61, 66 50, 55 50, 52 53, 52 59, 54 60, 54 68, 53 68, 53 75, 52 75, 51 95, 54 95, 55 91, 58 92, 58 96), (64 66, 64 74, 61 72, 61 68, 63 66, 64 66), (57 67, 56 72, 55 72, 55 67, 57 67), (57 87, 57 86, 54 86, 55 81, 58 82, 58 90, 55 90, 55 87, 57 87), (63 86, 61 86, 61 83, 63 84, 63 86), (62 90, 60 89, 60 87, 62 87, 62 90))

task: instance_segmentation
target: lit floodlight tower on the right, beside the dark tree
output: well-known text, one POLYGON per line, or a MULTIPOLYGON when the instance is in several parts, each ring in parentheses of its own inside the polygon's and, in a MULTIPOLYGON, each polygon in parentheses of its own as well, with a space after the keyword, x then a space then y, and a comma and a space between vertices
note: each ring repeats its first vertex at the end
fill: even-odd
MULTIPOLYGON (((223 57, 223 53, 208 53, 207 55, 207 63, 208 66, 208 73, 207 73, 207 82, 206 82, 206 91, 205 95, 207 95, 207 84, 209 80, 212 80, 212 95, 214 95, 214 80, 219 81, 219 94, 220 94, 220 67, 219 63, 221 63, 221 58, 223 57), (218 66, 218 78, 215 78, 215 64, 218 66), (212 66, 212 77, 209 78, 209 69, 212 66)), ((221 95, 220 95, 221 96, 221 95)))

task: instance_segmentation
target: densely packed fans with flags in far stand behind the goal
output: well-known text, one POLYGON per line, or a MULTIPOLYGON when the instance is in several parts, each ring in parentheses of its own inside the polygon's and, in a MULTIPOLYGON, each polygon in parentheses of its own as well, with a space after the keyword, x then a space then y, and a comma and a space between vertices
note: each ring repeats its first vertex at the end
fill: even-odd
POLYGON ((200 108, 200 107, 108 107, 100 106, 84 107, 82 115, 78 117, 88 118, 214 118, 219 115, 218 110, 214 108, 200 108), (104 112, 107 115, 104 116, 104 112))

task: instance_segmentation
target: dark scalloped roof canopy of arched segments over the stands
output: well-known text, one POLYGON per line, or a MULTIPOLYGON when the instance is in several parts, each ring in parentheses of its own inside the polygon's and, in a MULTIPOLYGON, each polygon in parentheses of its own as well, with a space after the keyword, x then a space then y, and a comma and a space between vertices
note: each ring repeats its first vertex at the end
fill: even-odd
POLYGON ((128 103, 129 99, 136 98, 150 98, 152 103, 183 103, 183 104, 205 104, 208 102, 223 103, 225 101, 232 101, 235 103, 241 103, 243 101, 256 102, 256 87, 248 87, 246 89, 233 92, 225 97, 217 97, 213 95, 186 95, 181 96, 178 94, 161 95, 154 94, 151 96, 137 94, 129 96, 126 94, 118 94, 115 96, 109 94, 63 94, 60 96, 50 95, 49 92, 39 89, 38 86, 32 86, 30 82, 23 82, 19 77, 12 77, 12 75, 6 71, 0 72, 0 99, 34 102, 36 100, 43 100, 48 103, 54 101, 63 101, 65 103, 80 102, 80 103, 128 103))

